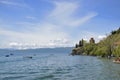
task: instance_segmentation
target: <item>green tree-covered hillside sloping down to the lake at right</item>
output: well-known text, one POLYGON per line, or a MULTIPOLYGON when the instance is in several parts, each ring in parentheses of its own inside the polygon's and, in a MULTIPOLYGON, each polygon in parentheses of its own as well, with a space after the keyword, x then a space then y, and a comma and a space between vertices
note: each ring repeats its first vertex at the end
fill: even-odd
POLYGON ((72 55, 92 55, 101 57, 120 57, 120 28, 111 32, 99 43, 95 43, 91 38, 89 43, 83 39, 76 44, 72 50, 72 55))

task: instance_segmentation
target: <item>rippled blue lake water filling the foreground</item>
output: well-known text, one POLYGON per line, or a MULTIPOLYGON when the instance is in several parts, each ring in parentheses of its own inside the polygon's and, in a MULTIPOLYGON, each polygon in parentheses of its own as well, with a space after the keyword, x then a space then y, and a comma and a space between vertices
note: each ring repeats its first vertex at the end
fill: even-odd
POLYGON ((14 51, 5 57, 8 52, 2 51, 0 80, 120 80, 120 64, 111 60, 69 56, 64 51, 30 52, 14 51))

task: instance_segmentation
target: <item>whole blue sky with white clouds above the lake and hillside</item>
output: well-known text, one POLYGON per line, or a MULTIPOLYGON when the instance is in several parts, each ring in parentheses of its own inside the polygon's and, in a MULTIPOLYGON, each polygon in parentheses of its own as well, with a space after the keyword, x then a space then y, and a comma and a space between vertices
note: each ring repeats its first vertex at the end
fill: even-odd
POLYGON ((0 0, 0 48, 74 46, 120 27, 119 0, 0 0))

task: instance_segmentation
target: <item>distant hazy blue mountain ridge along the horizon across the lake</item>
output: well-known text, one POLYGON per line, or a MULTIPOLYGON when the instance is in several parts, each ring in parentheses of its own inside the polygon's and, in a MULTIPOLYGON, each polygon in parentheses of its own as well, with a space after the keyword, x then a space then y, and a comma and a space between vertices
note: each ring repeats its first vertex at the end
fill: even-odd
POLYGON ((0 49, 0 54, 6 53, 20 53, 20 54, 28 54, 28 53, 67 53, 69 54, 73 47, 58 47, 58 48, 37 48, 37 49, 0 49))

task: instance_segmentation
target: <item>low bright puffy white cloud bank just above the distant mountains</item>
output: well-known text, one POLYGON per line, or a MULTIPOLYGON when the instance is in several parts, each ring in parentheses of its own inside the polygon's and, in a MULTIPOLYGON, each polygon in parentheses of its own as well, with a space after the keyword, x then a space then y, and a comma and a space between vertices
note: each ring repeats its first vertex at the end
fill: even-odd
POLYGON ((28 42, 10 42, 8 45, 11 48, 15 49, 28 49, 28 48, 45 48, 45 47, 68 47, 71 46, 71 42, 66 38, 57 38, 49 40, 48 42, 45 42, 44 44, 38 44, 38 43, 28 43, 28 42))

